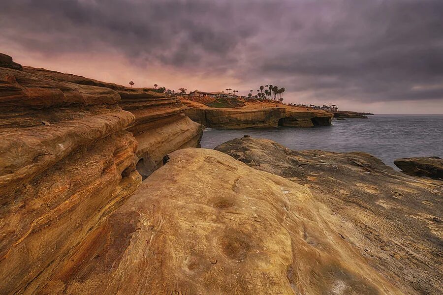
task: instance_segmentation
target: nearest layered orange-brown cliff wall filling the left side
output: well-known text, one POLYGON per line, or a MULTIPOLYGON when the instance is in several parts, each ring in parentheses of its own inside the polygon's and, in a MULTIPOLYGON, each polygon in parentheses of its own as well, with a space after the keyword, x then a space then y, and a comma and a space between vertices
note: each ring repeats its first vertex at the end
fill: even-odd
POLYGON ((0 290, 31 294, 141 177, 116 91, 14 68, 0 67, 0 290))

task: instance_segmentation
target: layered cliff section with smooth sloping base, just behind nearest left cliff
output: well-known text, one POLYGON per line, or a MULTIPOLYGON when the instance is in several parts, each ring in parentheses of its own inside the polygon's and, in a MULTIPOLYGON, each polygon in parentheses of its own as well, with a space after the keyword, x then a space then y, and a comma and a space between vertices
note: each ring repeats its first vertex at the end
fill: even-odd
POLYGON ((163 165, 163 158, 179 148, 199 147, 203 126, 185 115, 177 97, 149 89, 119 91, 123 109, 135 115, 131 131, 138 142, 137 170, 143 178, 163 165))

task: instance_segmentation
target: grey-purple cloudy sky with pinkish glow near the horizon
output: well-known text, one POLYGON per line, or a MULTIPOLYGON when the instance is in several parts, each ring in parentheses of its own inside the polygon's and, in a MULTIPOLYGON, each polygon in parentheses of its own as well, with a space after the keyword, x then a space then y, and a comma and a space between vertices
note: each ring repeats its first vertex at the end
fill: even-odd
POLYGON ((0 52, 107 82, 443 114, 443 0, 2 0, 0 52))

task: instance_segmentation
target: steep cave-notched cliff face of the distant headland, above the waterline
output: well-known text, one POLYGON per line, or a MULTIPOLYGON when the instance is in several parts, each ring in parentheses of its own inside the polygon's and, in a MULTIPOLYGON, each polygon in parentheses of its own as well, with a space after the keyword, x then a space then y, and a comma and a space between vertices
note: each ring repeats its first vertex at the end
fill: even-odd
POLYGON ((213 128, 311 127, 331 124, 332 114, 323 111, 293 111, 285 107, 220 109, 190 107, 186 114, 194 121, 213 128))

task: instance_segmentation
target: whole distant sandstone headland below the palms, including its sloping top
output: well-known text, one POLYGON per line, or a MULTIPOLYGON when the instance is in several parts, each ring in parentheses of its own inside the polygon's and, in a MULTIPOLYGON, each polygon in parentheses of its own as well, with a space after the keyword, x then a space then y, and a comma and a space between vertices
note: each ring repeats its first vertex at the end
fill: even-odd
POLYGON ((236 104, 222 105, 209 99, 199 101, 181 97, 189 109, 185 113, 207 127, 240 129, 250 127, 330 125, 333 114, 320 110, 298 108, 282 103, 255 99, 236 99, 236 104), (218 105, 218 107, 211 107, 218 105))

